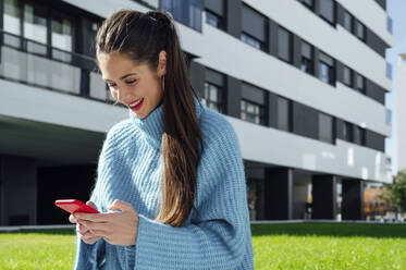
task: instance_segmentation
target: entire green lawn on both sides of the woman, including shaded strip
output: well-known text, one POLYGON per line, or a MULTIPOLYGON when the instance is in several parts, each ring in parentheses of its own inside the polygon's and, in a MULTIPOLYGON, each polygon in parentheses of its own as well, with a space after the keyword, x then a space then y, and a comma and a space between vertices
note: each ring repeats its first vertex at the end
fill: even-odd
MULTIPOLYGON (((255 269, 406 269, 406 225, 253 224, 255 269)), ((0 233, 0 270, 72 269, 73 230, 0 233)))

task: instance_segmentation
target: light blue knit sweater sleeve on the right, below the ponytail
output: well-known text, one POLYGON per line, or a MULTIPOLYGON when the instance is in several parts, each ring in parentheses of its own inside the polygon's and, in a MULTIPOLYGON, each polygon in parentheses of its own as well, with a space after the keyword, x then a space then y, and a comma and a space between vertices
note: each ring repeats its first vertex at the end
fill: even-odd
MULTIPOLYGON (((231 124, 211 126, 202 154, 207 177, 198 189, 198 213, 175 228, 139 214, 135 269, 235 269, 250 241, 246 183, 231 124), (211 175, 211 176, 209 176, 211 175), (216 175, 216 176, 214 176, 216 175), (248 237, 249 234, 249 237, 248 237)), ((205 174, 202 174, 205 175, 205 174)))

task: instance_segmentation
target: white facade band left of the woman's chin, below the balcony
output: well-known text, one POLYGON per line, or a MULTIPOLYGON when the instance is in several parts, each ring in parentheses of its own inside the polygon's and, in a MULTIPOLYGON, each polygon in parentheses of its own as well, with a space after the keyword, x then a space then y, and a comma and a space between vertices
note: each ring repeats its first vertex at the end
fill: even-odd
POLYGON ((107 132, 128 111, 82 97, 0 79, 0 115, 107 132))

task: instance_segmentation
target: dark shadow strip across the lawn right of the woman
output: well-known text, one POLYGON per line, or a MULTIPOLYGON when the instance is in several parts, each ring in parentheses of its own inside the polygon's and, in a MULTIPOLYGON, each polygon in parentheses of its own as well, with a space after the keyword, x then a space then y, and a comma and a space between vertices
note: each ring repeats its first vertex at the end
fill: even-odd
POLYGON ((405 224, 251 224, 253 236, 294 235, 294 236, 364 236, 376 238, 406 238, 405 224))

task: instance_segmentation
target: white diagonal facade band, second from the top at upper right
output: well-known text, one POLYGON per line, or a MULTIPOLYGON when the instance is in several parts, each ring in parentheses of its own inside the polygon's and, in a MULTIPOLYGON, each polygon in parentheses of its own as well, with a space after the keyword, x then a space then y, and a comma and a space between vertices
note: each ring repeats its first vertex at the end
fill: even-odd
POLYGON ((296 0, 246 0, 244 2, 386 90, 391 89, 392 83, 385 76, 385 60, 343 27, 332 27, 296 0))

